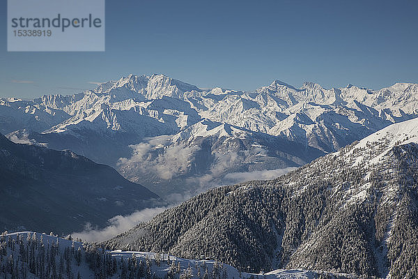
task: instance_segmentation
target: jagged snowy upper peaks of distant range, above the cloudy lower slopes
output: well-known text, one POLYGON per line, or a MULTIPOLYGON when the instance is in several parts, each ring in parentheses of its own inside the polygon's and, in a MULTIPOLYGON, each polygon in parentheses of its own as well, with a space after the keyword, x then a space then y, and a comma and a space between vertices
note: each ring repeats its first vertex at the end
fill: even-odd
MULTIPOLYGON (((137 144, 144 137, 176 135, 208 119, 255 133, 281 135, 333 152, 389 124, 418 116, 418 85, 398 83, 373 91, 352 85, 325 89, 305 82, 302 88, 295 89, 275 80, 253 92, 219 87, 201 91, 167 75, 131 74, 73 96, 51 95, 13 102, 3 98, 0 116, 6 121, 0 121, 0 132, 29 128, 50 138, 40 142, 52 141, 55 133, 84 139, 100 131, 109 139, 129 133, 125 137, 130 139, 129 144, 137 144)), ((219 131, 201 127, 195 132, 187 137, 214 133, 213 138, 217 138, 219 131)), ((220 132, 229 137, 237 135, 227 127, 220 132)), ((61 148, 60 144, 56 149, 61 148)), ((79 146, 63 147, 80 150, 79 146)), ((91 150, 82 152, 102 157, 102 152, 91 154, 91 150)))

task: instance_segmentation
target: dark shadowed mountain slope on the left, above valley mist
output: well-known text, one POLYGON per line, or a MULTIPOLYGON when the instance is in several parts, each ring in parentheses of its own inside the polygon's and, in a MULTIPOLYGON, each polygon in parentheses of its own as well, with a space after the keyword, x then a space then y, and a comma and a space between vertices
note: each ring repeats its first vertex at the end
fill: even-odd
POLYGON ((69 234, 165 204, 144 186, 72 151, 15 144, 0 134, 0 229, 69 234))

